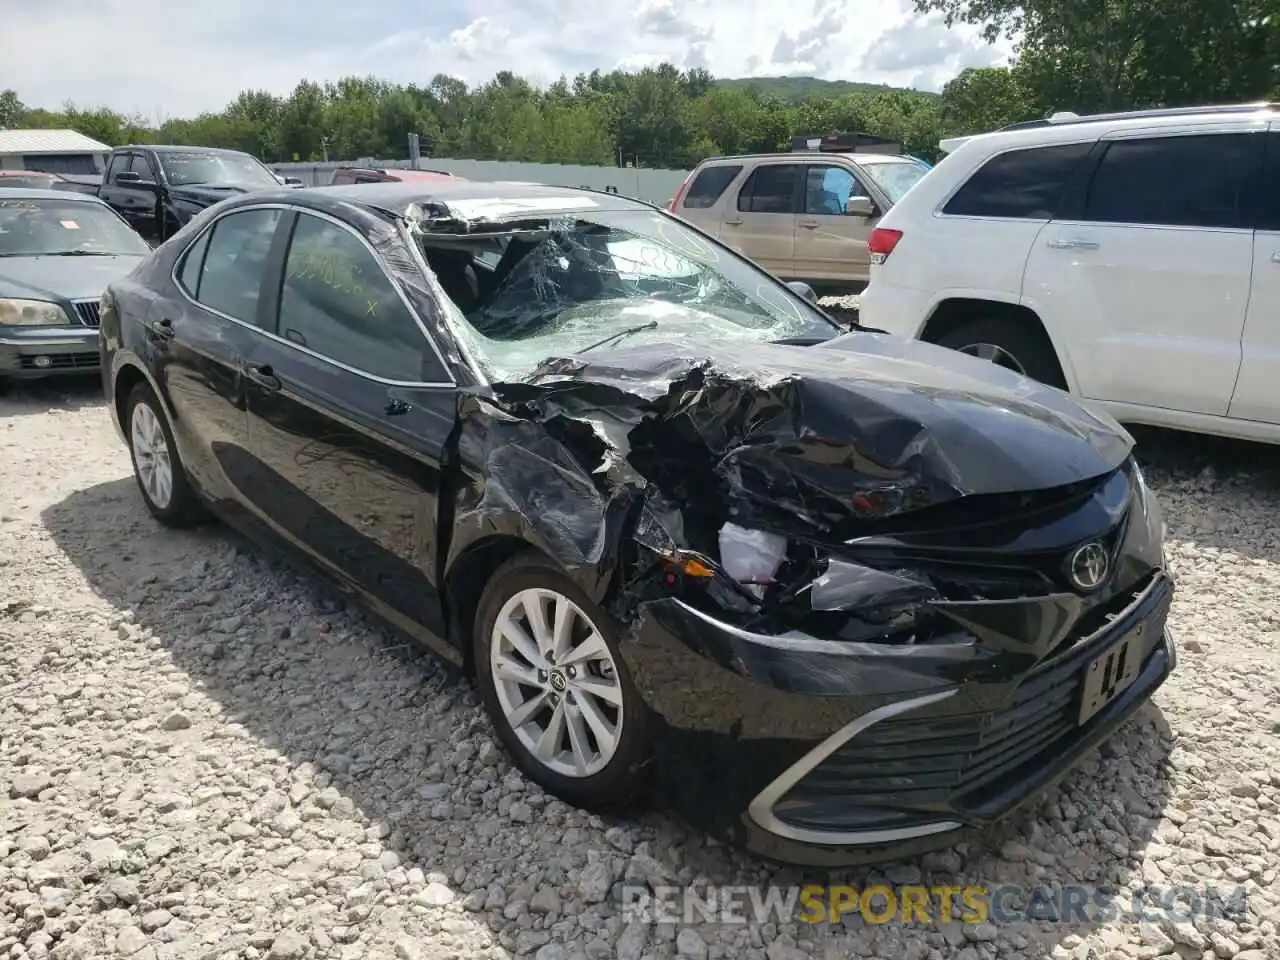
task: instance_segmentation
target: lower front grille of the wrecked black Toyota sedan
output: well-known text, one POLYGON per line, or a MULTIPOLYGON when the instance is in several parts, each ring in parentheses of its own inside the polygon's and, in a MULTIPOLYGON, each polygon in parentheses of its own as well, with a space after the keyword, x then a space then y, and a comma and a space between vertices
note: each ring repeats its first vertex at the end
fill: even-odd
MULTIPOLYGON (((997 710, 905 716, 869 727, 792 787, 774 815, 795 827, 835 831, 858 828, 863 818, 874 820, 877 808, 963 814, 982 806, 1071 742, 1082 730, 1082 671, 1140 618, 1155 614, 1137 650, 1143 663, 1149 659, 1161 643, 1171 595, 1167 581, 1157 585, 1146 602, 1024 677, 997 710)), ((982 684, 973 686, 980 691, 982 684)), ((997 691, 978 695, 984 692, 997 691)))

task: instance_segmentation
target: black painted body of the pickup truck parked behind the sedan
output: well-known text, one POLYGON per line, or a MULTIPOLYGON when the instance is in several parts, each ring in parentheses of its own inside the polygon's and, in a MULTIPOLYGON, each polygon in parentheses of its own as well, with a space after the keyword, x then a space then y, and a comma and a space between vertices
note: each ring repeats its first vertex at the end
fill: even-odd
MULTIPOLYGON (((184 154, 241 154, 236 150, 212 147, 175 146, 124 146, 116 147, 108 156, 105 173, 97 196, 105 200, 120 214, 129 225, 148 242, 159 244, 169 239, 202 210, 215 204, 246 193, 243 187, 220 187, 207 184, 172 186, 160 163, 165 151, 184 154), (124 157, 141 157, 150 178, 141 182, 120 182, 116 179, 118 161, 124 157)), ((255 160, 256 163, 256 160, 255 160)), ((266 169, 266 168, 264 168, 266 169)))

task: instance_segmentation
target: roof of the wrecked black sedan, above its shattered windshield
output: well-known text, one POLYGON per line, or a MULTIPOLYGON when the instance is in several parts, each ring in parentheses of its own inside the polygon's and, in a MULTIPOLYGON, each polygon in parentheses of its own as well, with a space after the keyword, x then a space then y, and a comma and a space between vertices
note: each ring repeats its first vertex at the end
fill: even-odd
MULTIPOLYGON (((343 201, 357 206, 380 207, 384 210, 403 210, 410 204, 443 204, 449 207, 454 204, 466 205, 468 201, 492 202, 500 205, 502 201, 532 201, 534 206, 524 207, 524 212, 530 210, 538 214, 558 214, 570 211, 593 210, 653 210, 653 205, 640 200, 623 197, 618 193, 604 193, 603 191, 581 189, 572 187, 549 187, 541 183, 511 183, 493 180, 463 180, 453 177, 442 177, 430 183, 410 180, 388 180, 385 183, 353 183, 337 187, 302 187, 283 188, 280 191, 256 192, 244 195, 244 204, 257 202, 297 202, 298 200, 317 209, 329 206, 332 201, 343 201)), ((513 210, 512 214, 520 212, 513 210)), ((500 215, 495 219, 503 219, 500 215)))

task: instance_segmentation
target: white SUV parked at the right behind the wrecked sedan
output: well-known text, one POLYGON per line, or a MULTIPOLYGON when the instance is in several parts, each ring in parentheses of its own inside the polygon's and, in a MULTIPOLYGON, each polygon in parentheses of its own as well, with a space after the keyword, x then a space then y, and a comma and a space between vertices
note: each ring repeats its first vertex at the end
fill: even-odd
POLYGON ((1280 443, 1280 105, 964 140, 868 246, 867 326, 1120 421, 1280 443))

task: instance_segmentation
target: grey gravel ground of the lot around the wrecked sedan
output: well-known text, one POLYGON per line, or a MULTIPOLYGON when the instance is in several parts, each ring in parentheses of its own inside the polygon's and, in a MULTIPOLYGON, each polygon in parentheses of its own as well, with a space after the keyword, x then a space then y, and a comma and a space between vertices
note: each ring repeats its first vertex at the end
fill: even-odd
POLYGON ((1280 458, 1140 443, 1175 676, 984 850, 846 877, 1244 884, 1247 910, 676 928, 611 884, 800 876, 550 800, 430 657, 224 529, 160 529, 92 384, 0 397, 0 957, 1275 960, 1280 458))

